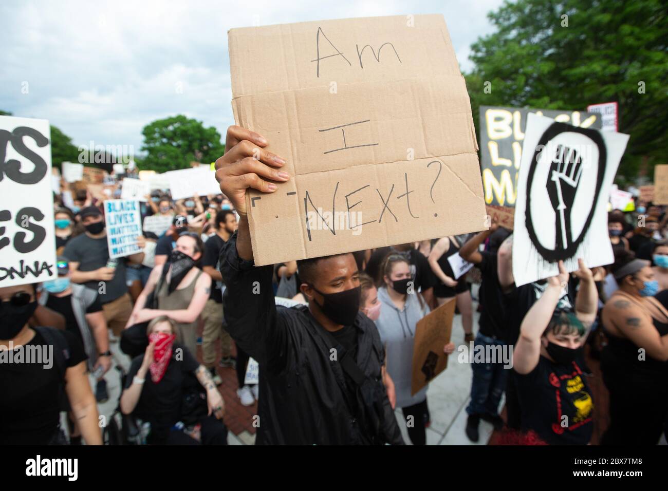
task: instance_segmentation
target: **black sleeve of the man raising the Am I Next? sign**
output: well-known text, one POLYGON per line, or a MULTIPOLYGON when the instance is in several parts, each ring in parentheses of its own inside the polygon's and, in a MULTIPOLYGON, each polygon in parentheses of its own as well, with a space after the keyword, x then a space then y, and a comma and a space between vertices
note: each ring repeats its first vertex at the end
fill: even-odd
POLYGON ((220 251, 220 274, 227 286, 223 312, 227 331, 258 363, 272 365, 285 360, 288 349, 287 323, 277 315, 271 282, 273 265, 256 267, 236 252, 236 235, 220 251))

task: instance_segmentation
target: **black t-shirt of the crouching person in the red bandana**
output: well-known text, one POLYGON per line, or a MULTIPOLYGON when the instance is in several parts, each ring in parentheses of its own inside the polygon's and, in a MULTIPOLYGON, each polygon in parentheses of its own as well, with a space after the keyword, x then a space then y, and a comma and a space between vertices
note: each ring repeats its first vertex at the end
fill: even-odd
MULTIPOLYGON (((132 379, 137 375, 143 360, 144 355, 132 360, 126 378, 126 389, 132 385, 132 379)), ((156 435, 156 438, 164 438, 164 433, 180 421, 183 389, 189 383, 192 383, 192 373, 198 366, 199 363, 186 347, 174 343, 172 345, 172 359, 167 365, 160 382, 154 383, 151 379, 151 372, 146 372, 142 395, 140 395, 132 414, 150 422, 151 432, 156 435), (178 351, 179 349, 182 351, 178 351), (180 356, 178 353, 183 353, 183 355, 180 356), (180 359, 177 359, 177 357, 180 359)))

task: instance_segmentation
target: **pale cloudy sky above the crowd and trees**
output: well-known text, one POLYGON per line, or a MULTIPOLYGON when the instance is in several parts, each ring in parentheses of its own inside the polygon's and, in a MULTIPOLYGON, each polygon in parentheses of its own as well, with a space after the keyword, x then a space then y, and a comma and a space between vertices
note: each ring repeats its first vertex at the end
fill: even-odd
POLYGON ((502 0, 0 3, 0 110, 48 119, 74 144, 142 146, 142 128, 185 114, 220 134, 230 109, 227 31, 319 19, 442 13, 462 71, 502 0), (288 3, 289 5, 284 5, 288 3))

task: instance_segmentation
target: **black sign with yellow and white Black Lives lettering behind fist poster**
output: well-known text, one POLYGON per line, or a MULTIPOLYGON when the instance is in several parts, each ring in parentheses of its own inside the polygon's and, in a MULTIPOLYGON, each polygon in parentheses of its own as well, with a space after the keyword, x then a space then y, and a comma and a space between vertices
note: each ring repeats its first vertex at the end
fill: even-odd
POLYGON ((480 106, 480 163, 486 204, 514 206, 529 114, 580 128, 601 128, 601 116, 580 111, 480 106))

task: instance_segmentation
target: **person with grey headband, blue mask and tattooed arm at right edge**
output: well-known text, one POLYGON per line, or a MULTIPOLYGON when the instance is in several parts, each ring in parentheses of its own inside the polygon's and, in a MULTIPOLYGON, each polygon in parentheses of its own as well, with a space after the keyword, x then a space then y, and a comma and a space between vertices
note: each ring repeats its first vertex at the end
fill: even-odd
POLYGON ((649 261, 617 251, 612 271, 619 289, 601 315, 608 339, 601 369, 610 393, 601 444, 655 445, 668 416, 668 310, 653 298, 659 283, 649 261))

